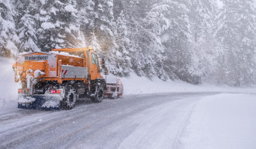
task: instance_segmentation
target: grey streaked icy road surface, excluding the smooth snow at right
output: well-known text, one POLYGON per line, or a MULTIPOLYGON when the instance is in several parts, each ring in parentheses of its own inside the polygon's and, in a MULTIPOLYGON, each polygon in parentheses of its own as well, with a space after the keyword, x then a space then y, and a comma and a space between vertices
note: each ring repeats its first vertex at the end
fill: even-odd
POLYGON ((130 95, 73 110, 0 110, 0 148, 179 148, 202 97, 216 93, 130 95))

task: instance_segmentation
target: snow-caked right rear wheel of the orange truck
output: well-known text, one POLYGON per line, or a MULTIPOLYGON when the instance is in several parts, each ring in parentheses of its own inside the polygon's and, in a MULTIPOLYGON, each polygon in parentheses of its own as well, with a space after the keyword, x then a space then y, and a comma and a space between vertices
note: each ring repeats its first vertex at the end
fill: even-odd
POLYGON ((77 100, 77 93, 72 86, 65 87, 64 98, 61 101, 61 109, 71 110, 75 105, 75 101, 77 100))

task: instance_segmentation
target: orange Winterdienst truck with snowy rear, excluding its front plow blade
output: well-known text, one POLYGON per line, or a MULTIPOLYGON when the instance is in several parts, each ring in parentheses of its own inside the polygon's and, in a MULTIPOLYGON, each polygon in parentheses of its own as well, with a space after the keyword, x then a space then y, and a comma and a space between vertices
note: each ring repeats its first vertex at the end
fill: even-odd
POLYGON ((85 97, 102 102, 107 89, 99 56, 90 47, 22 54, 13 69, 22 85, 19 108, 68 110, 85 97))

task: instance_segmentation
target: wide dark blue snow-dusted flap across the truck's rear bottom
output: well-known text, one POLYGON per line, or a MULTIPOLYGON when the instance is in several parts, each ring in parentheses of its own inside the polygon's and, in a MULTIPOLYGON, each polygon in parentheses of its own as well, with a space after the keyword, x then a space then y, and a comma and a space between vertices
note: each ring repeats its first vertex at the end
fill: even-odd
POLYGON ((58 96, 19 96, 18 99, 18 108, 21 109, 60 110, 60 97, 58 96))

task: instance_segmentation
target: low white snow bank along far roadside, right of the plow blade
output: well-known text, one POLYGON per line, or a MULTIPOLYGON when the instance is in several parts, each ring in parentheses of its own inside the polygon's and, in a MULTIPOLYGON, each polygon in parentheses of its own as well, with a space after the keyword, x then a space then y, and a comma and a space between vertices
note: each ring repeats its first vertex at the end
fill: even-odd
POLYGON ((149 80, 144 76, 131 73, 129 77, 121 78, 124 95, 144 93, 188 93, 188 92, 220 92, 220 93, 256 93, 256 87, 215 86, 204 83, 192 85, 179 80, 163 81, 157 78, 149 80))

